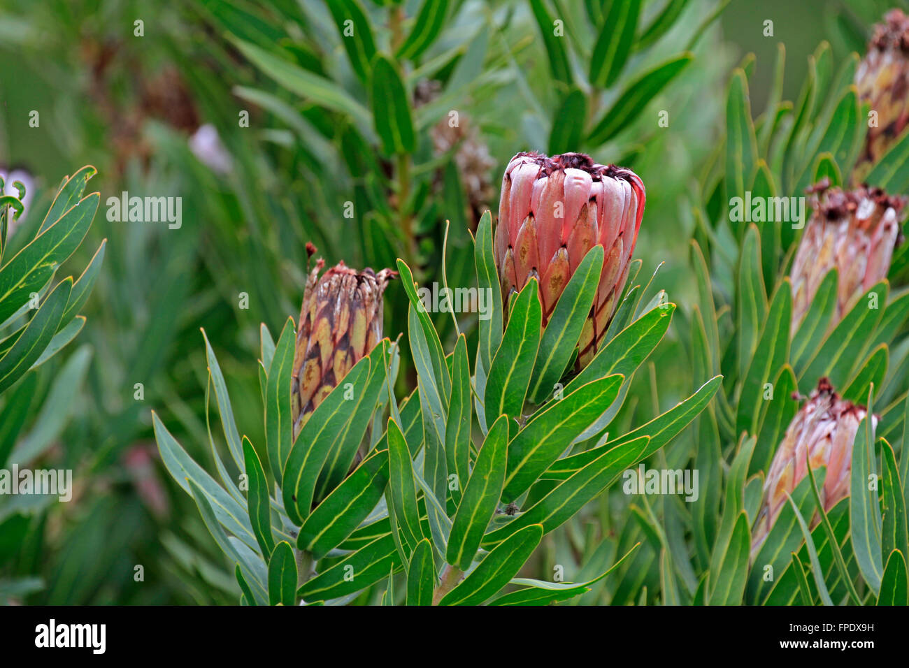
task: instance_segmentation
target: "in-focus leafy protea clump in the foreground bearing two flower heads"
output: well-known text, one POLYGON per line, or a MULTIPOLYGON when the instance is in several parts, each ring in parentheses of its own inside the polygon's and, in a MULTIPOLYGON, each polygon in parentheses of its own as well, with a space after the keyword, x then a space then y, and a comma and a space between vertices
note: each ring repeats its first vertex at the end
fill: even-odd
MULTIPOLYGON (((629 259, 643 214, 640 179, 585 156, 559 161, 546 183, 571 195, 574 224, 533 206, 544 222, 540 240, 556 258, 548 266, 561 268, 547 272, 540 264, 543 281, 557 279, 543 291, 535 275, 515 284, 520 292, 507 318, 497 294, 492 216, 486 212, 477 227, 478 287, 498 298, 480 321, 475 354, 468 354, 464 334, 445 352, 413 272, 398 260, 418 376, 399 401, 392 389, 396 346, 381 338, 382 295, 392 273, 339 264, 320 276, 316 263, 299 331, 289 319, 275 342, 262 327, 264 449, 239 437, 208 349, 228 449, 248 490, 237 488, 224 464, 215 482, 155 416, 162 459, 234 564, 244 603, 344 603, 368 592, 370 601, 385 603, 544 604, 584 593, 609 572, 555 589, 513 582, 545 533, 681 432, 709 403, 720 377, 631 431, 614 424, 627 383, 659 344, 675 305, 662 293, 644 302, 645 290, 622 291, 624 276, 637 269, 629 259), (587 183, 586 192, 575 192, 575 180, 587 183), (614 315, 620 302, 621 315, 614 315), (562 387, 558 381, 579 348, 586 364, 562 387), (524 414, 530 394, 538 401, 524 414), (268 454, 267 468, 260 452, 268 454), (244 491, 245 507, 237 501, 244 491)), ((541 194, 547 203, 556 196, 541 194)))

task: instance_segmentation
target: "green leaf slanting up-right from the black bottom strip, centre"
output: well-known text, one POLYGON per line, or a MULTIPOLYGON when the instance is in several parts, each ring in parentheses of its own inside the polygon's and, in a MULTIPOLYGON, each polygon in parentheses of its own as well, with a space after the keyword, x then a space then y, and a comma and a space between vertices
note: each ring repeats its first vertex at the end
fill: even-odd
POLYGON ((491 598, 521 570, 542 538, 543 527, 539 524, 513 533, 486 554, 472 573, 442 597, 439 605, 479 605, 491 598))

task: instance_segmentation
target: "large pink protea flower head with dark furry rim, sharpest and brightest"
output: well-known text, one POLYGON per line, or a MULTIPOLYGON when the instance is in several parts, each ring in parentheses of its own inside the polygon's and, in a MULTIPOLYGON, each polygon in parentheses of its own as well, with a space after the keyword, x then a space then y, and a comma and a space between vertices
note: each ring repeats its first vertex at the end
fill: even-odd
POLYGON ((603 272, 579 342, 577 368, 593 359, 628 276, 644 216, 644 183, 629 169, 587 155, 519 153, 505 169, 495 261, 502 295, 540 284, 543 324, 578 264, 604 247, 603 272))

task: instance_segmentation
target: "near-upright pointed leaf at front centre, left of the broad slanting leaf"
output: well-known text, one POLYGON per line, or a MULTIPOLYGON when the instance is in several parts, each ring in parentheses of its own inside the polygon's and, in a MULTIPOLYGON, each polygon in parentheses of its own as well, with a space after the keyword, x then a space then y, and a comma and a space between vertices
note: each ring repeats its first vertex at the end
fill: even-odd
POLYGON ((508 453, 508 418, 501 415, 486 434, 464 496, 454 513, 445 561, 462 571, 470 568, 480 541, 502 495, 508 453))

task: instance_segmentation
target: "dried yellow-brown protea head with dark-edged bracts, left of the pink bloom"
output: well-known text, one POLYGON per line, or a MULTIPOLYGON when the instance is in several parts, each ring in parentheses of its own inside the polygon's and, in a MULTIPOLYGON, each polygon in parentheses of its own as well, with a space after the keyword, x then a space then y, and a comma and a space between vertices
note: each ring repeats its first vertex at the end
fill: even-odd
MULTIPOLYGON (((312 256, 315 247, 306 244, 312 256)), ((322 274, 318 260, 309 273, 296 333, 291 379, 294 439, 310 414, 348 371, 382 339, 382 294, 397 273, 358 272, 343 262, 322 274)))

